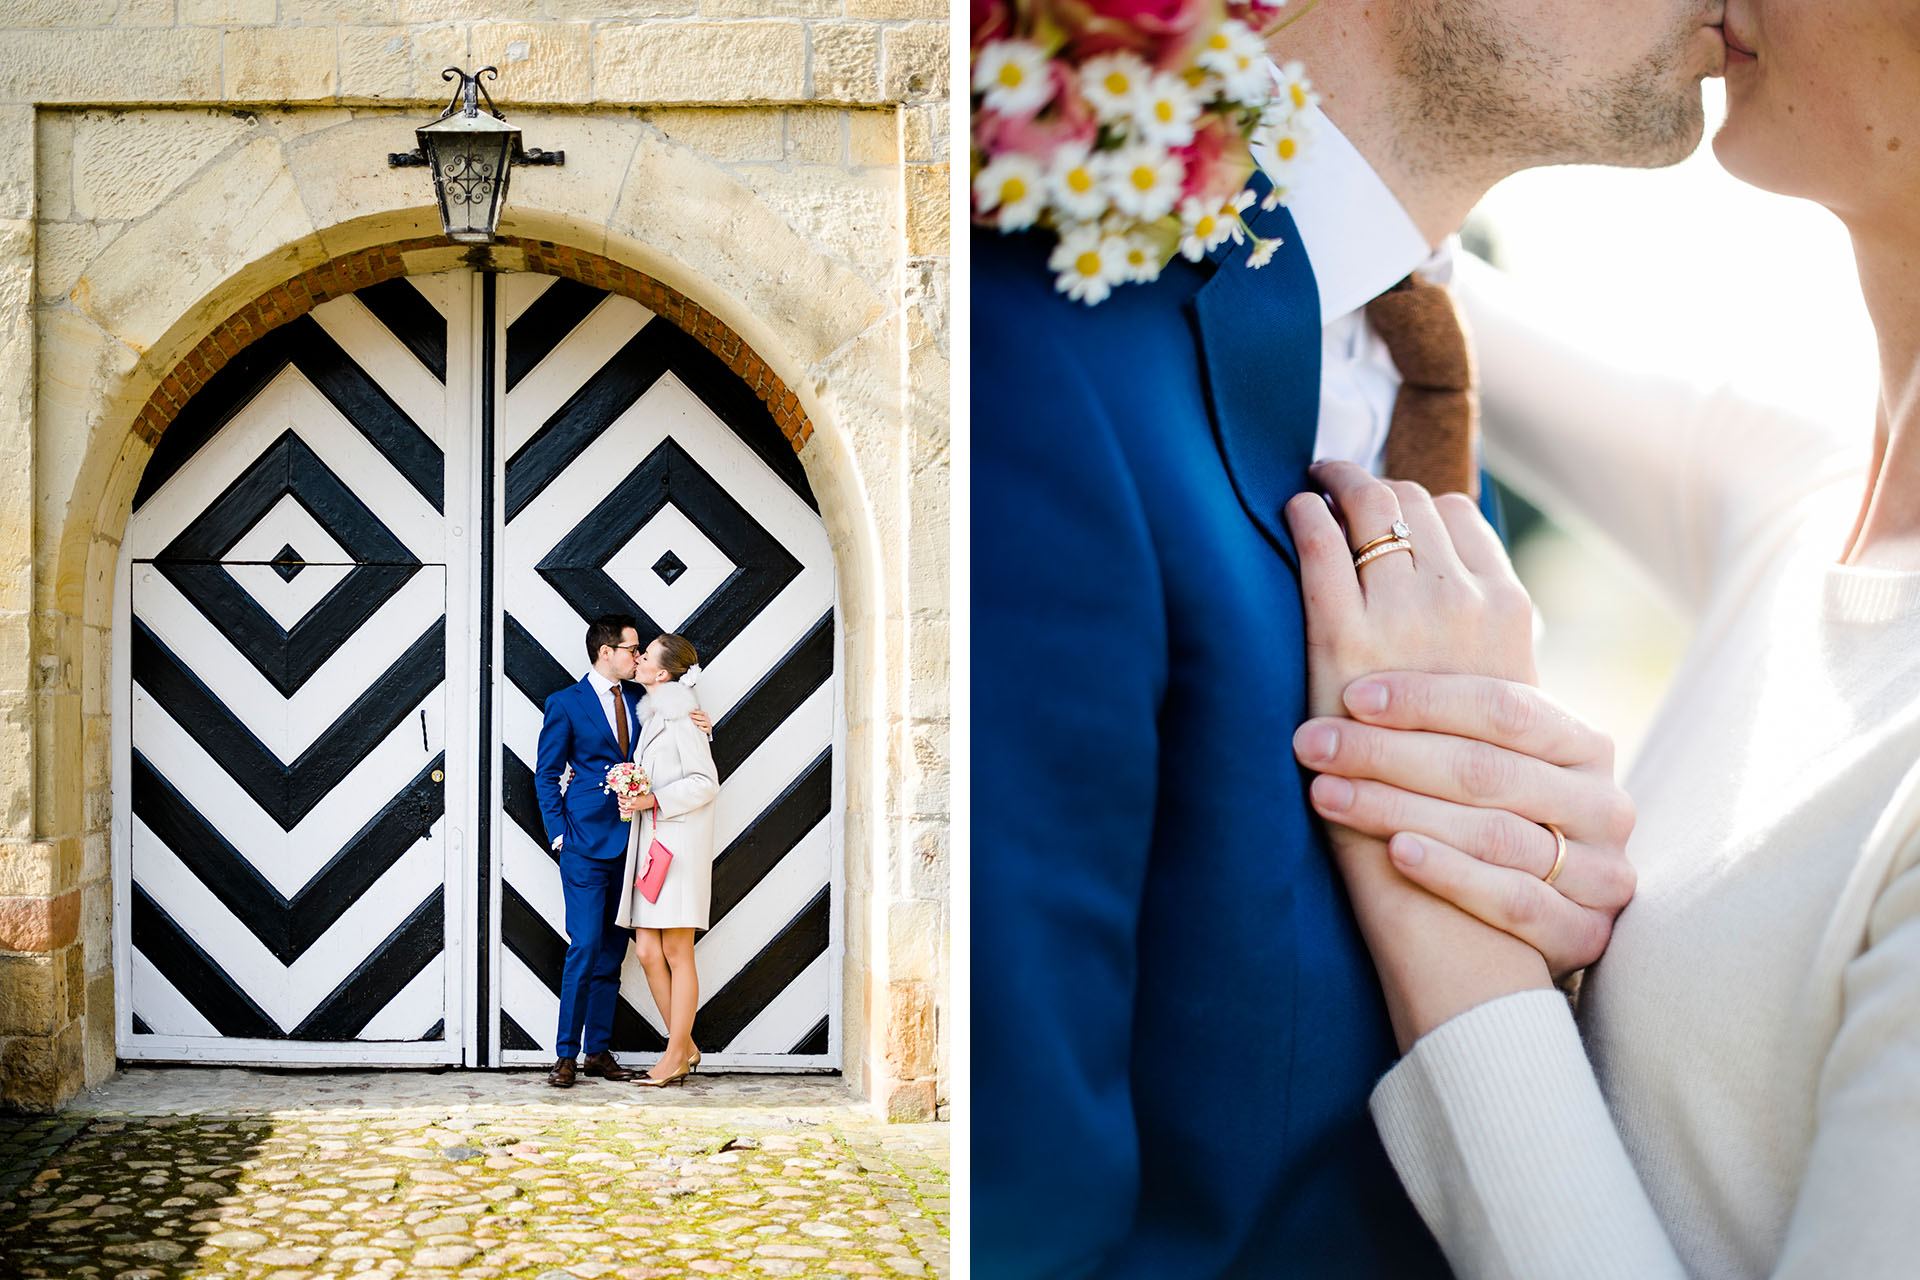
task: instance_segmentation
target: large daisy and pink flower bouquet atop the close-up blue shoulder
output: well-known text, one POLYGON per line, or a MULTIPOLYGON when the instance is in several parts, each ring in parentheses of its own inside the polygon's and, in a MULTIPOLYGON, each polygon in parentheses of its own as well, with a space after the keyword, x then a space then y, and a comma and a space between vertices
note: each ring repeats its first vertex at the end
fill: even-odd
MULTIPOLYGON (((1044 226, 1054 288, 1089 307, 1252 234, 1252 146, 1273 192, 1317 98, 1261 35, 1286 0, 972 0, 973 221, 1044 226)), ((1304 15, 1308 4, 1296 17, 1304 15)), ((1279 240, 1254 238, 1250 267, 1279 240)))

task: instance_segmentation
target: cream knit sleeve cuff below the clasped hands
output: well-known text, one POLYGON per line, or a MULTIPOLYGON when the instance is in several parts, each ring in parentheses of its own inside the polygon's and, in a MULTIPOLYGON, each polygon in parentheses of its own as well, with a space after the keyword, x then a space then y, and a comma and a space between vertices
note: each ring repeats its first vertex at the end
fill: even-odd
POLYGON ((1373 1090, 1413 1205, 1459 1274, 1682 1276, 1555 990, 1421 1036, 1373 1090))

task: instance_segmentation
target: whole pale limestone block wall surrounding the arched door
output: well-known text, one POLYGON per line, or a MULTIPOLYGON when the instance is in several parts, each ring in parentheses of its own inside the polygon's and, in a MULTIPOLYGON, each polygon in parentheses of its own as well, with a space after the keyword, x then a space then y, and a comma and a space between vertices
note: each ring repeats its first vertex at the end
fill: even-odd
POLYGON ((275 290, 472 261, 386 154, 444 106, 444 65, 482 63, 528 146, 568 154, 515 173, 492 261, 580 253, 657 280, 791 399, 847 645, 847 1075, 889 1115, 945 1103, 945 8, 0 12, 0 1107, 56 1107, 113 1069, 113 578, 152 443, 204 344, 290 319, 261 309, 275 290))

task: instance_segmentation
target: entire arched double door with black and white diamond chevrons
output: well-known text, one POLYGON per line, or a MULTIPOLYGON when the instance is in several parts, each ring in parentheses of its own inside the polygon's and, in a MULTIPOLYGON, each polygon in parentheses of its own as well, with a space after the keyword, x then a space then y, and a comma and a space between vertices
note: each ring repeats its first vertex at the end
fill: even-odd
MULTIPOLYGON (((551 1057, 530 762, 586 620, 684 631, 720 766, 707 1061, 837 1067, 826 528, 766 407, 630 299, 392 280, 244 349, 121 549, 115 963, 132 1059, 551 1057)), ((636 961, 614 1048, 659 1048, 636 961)))

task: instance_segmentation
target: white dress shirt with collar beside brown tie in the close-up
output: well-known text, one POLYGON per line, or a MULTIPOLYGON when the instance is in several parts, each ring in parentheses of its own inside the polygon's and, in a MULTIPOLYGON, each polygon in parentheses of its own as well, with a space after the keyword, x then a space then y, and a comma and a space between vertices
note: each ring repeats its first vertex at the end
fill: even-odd
MULTIPOLYGON (((1313 461, 1344 459, 1379 474, 1400 370, 1367 324, 1367 303, 1419 271, 1450 284, 1455 240, 1438 249, 1386 188, 1373 165, 1319 107, 1311 144, 1288 173, 1286 207, 1321 296, 1321 399, 1313 461)), ((1271 152, 1254 148, 1265 163, 1271 152)))

